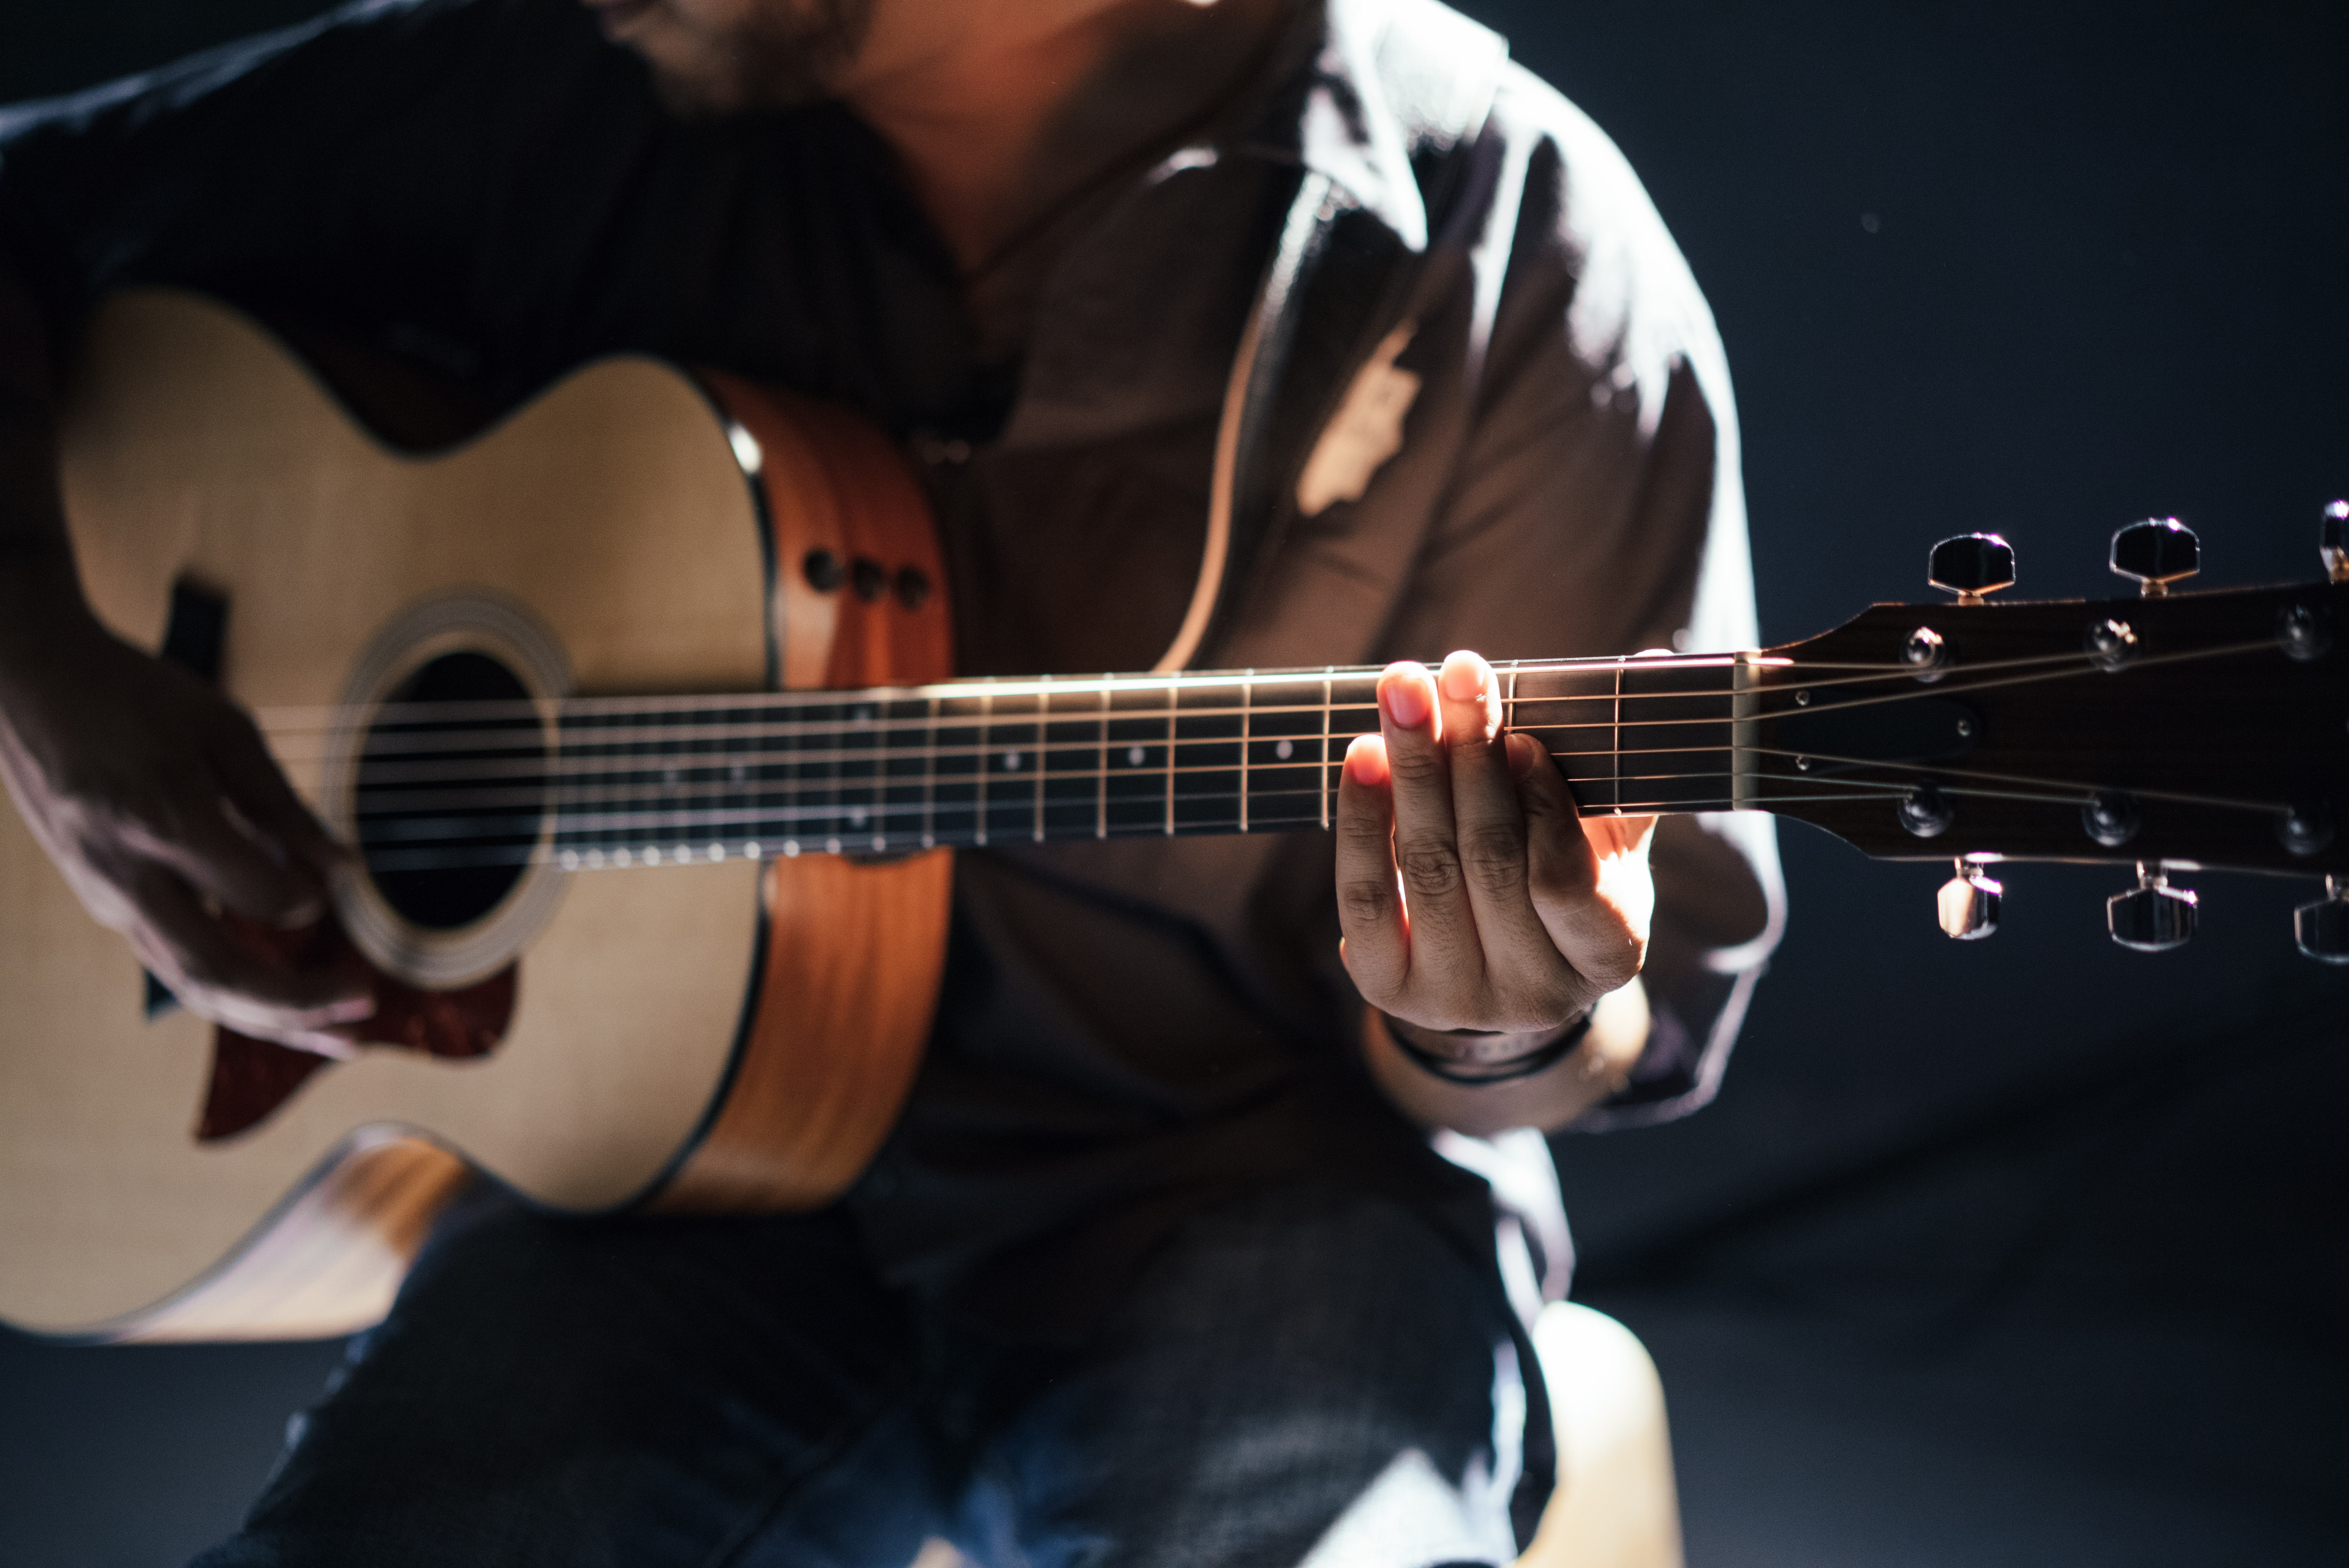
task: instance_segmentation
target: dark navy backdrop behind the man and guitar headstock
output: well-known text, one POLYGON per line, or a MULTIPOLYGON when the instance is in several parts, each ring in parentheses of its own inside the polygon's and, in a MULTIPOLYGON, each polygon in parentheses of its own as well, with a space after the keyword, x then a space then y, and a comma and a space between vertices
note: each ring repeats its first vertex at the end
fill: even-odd
MULTIPOLYGON (((0 0, 0 101, 315 9, 0 0)), ((1482 0, 1630 153, 1745 423, 1762 624, 1924 596, 1992 526, 2102 594, 2178 514, 2203 582, 2309 577, 2349 491, 2349 12, 1482 0)), ((2311 885, 2201 878, 2203 934, 2102 937, 2116 873, 1783 833, 1795 918, 1724 1099, 1562 1138, 1579 1293, 1656 1352, 1689 1559, 2349 1561, 2349 972, 2311 885)), ((0 1559, 183 1559, 334 1345, 0 1336, 0 1559)))

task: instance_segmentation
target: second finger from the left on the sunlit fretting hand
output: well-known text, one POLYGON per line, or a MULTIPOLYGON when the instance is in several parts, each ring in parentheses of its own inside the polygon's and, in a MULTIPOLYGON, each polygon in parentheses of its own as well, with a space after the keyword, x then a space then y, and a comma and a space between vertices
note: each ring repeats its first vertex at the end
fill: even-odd
MULTIPOLYGON (((1379 732, 1395 800, 1395 873, 1412 920, 1409 984, 1431 981, 1456 1007, 1480 993, 1485 953, 1461 885, 1452 819, 1452 761, 1426 664, 1388 664, 1379 676, 1379 732)), ((1449 1012, 1452 1007, 1445 1007, 1449 1012)))

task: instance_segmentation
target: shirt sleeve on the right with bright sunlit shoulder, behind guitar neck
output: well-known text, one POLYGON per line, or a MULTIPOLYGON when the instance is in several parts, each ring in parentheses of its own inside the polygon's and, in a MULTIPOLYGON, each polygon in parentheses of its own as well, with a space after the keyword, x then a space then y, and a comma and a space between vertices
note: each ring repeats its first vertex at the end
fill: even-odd
MULTIPOLYGON (((1757 643, 1736 404, 1712 315, 1637 176, 1562 96, 1510 68, 1496 106, 1492 296, 1456 479, 1398 648, 1489 657, 1757 643), (1515 200, 1508 200, 1515 195, 1515 200)), ((1712 1099, 1785 918, 1771 819, 1665 817, 1628 1087, 1576 1129, 1712 1099)))

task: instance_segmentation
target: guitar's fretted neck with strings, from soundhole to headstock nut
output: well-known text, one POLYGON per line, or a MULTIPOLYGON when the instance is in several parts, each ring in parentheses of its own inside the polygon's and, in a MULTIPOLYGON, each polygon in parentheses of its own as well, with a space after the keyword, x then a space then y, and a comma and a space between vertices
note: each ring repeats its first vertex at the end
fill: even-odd
MULTIPOLYGON (((1586 812, 1689 812, 1734 805, 1745 667, 1550 660, 1499 678, 1506 721, 1550 749, 1586 812)), ((1377 667, 1327 667, 583 697, 531 709, 529 725, 521 704, 413 728, 385 714, 362 765, 362 836, 378 869, 585 871, 1327 829, 1346 744, 1379 728, 1377 681, 1377 667)))

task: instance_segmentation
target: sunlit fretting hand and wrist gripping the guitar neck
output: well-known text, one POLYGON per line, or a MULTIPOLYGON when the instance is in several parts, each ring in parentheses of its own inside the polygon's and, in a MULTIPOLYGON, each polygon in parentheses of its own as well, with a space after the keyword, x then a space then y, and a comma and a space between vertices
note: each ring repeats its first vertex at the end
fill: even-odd
MULTIPOLYGON (((1654 824, 1583 819, 1548 749, 1501 728, 1499 683, 1482 657, 1454 653, 1438 676, 1391 664, 1379 676, 1379 735, 1353 742, 1339 784, 1346 969, 1386 1028, 1421 1052, 1463 1063, 1539 1052, 1640 974, 1656 899, 1647 873, 1654 824)), ((1644 1005, 1635 1012, 1633 1038, 1593 1030, 1564 1077, 1626 1068, 1647 1023, 1644 1005)), ((1377 1045, 1372 1030, 1381 1066, 1377 1045)), ((1604 1084, 1564 1099, 1555 1087, 1534 1089, 1557 1070, 1494 1087, 1421 1077, 1426 1084, 1400 1080, 1407 1108, 1454 1127, 1463 1115, 1480 1122, 1463 1131, 1489 1129, 1494 1115, 1499 1124, 1555 1124, 1604 1094, 1604 1084), (1510 1108, 1447 1113, 1426 1103, 1431 1096, 1510 1108)), ((1395 1073, 1381 1070, 1381 1082, 1398 1091, 1395 1073)))

